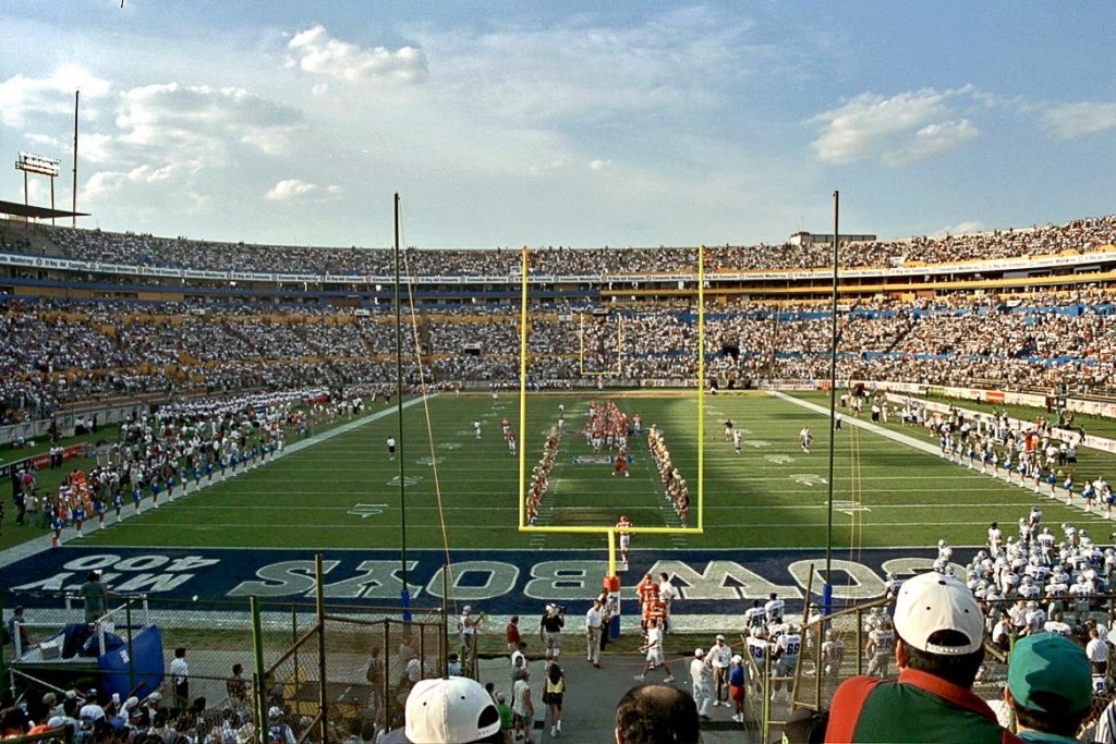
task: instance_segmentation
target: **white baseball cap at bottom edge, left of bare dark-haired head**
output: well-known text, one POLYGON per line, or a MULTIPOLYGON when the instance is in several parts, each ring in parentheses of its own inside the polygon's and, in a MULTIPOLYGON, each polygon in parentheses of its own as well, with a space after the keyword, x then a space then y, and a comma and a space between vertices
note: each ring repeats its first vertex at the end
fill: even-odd
POLYGON ((500 731, 492 697, 469 677, 416 683, 407 695, 405 716, 406 738, 400 741, 408 744, 468 744, 500 731))

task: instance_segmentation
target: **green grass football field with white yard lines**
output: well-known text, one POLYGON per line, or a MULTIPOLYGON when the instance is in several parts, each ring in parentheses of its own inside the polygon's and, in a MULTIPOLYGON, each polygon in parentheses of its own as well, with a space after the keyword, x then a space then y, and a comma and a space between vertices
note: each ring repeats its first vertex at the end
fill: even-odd
MULTIPOLYGON (((602 394, 645 427, 666 436, 675 465, 690 483, 696 524, 696 396, 602 394)), ((805 398, 824 403, 824 395, 805 398)), ((558 455, 540 523, 612 525, 627 513, 637 525, 677 526, 662 495, 645 439, 629 479, 612 477, 608 465, 575 464, 589 447, 577 432, 593 394, 535 395, 530 398, 526 444, 528 471, 541 453, 543 433, 566 406, 567 436, 558 455)), ((451 549, 602 548, 599 534, 523 533, 517 529, 518 461, 500 434, 500 419, 518 423, 518 400, 504 395, 493 407, 487 395, 439 396, 430 402, 430 431, 421 403, 406 409, 402 458, 406 489, 407 548, 451 549), (475 438, 472 422, 482 422, 475 438), (436 468, 431 465, 436 457, 436 468), (437 489, 435 489, 435 483, 437 489), (443 529, 444 526, 444 529, 443 529)), ((385 439, 396 432, 384 415, 352 432, 287 455, 186 500, 147 509, 135 519, 85 538, 89 545, 366 548, 401 544, 398 462, 389 461, 385 439)), ((898 431, 899 427, 893 426, 898 431)), ((902 434, 929 441, 914 429, 902 434)), ((1081 468, 1116 460, 1087 453, 1081 468)), ((1091 475, 1090 475, 1091 476, 1091 475)), ((793 548, 826 542, 828 439, 817 413, 764 394, 705 398, 705 503, 703 534, 639 534, 636 548, 793 548), (734 454, 724 441, 724 418, 744 429, 734 454), (811 454, 798 446, 798 432, 815 433, 811 454)), ((834 468, 837 508, 834 544, 841 549, 924 547, 945 538, 953 544, 981 544, 988 523, 1008 525, 1038 496, 991 476, 947 463, 910 444, 846 425, 838 434, 834 468)), ((1099 518, 1041 497, 1050 523, 1072 521, 1107 537, 1099 518), (1095 528, 1095 529, 1094 529, 1095 528)), ((126 509, 131 509, 131 505, 126 509)))

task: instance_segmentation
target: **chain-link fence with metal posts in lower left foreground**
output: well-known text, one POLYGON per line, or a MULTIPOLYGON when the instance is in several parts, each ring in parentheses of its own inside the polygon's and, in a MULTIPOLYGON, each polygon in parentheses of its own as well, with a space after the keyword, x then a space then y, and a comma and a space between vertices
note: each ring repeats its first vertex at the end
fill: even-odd
POLYGON ((86 621, 83 601, 66 592, 6 598, 23 608, 22 631, 4 645, 0 668, 36 721, 58 702, 95 698, 106 713, 198 741, 374 741, 402 725, 411 686, 445 674, 449 661, 442 608, 415 608, 404 621, 398 607, 144 595, 110 602, 86 621))

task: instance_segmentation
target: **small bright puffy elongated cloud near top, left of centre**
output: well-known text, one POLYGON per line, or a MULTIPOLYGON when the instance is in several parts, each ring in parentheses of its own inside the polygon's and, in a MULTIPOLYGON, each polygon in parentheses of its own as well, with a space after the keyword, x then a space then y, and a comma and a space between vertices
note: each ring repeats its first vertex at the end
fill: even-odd
POLYGON ((420 49, 364 49, 329 36, 320 25, 296 33, 287 48, 292 55, 289 66, 348 83, 415 83, 426 77, 426 57, 420 49))

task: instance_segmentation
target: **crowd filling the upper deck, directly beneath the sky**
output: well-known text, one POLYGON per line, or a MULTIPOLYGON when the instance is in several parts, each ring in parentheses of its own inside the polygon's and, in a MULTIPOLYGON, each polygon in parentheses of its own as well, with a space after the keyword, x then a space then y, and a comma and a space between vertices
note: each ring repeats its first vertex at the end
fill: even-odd
MULTIPOLYGON (((123 265, 210 271, 257 271, 298 274, 392 276, 394 253, 387 249, 258 245, 109 233, 71 228, 37 228, 39 241, 19 236, 0 249, 39 251, 64 258, 123 265)), ((841 251, 847 267, 895 267, 1036 257, 1088 251, 1116 243, 1116 215, 1065 224, 992 232, 855 242, 841 251)), ((693 271, 696 248, 539 247, 531 252, 531 271, 542 276, 624 276, 641 272, 693 271)), ((828 244, 723 245, 706 248, 708 271, 811 269, 830 265, 828 244)), ((407 249, 404 273, 419 277, 507 277, 516 274, 521 254, 514 249, 407 249)))

